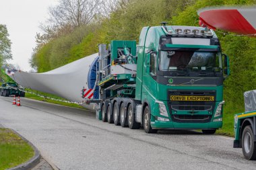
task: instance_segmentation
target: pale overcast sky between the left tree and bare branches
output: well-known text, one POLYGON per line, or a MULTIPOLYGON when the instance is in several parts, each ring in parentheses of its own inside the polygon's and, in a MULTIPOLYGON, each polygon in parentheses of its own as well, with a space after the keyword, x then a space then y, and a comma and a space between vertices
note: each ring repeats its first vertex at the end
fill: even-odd
POLYGON ((49 17, 49 7, 57 0, 0 0, 0 24, 5 24, 11 40, 13 60, 8 62, 19 65, 22 71, 30 71, 28 60, 32 48, 36 46, 36 32, 40 23, 49 17))

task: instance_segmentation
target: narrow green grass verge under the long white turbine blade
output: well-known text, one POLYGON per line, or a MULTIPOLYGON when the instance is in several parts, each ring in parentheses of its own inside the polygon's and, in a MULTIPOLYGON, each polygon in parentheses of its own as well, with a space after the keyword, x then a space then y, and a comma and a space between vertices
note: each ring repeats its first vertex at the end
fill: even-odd
MULTIPOLYGON (((28 89, 26 89, 26 90, 28 91, 28 89)), ((66 99, 63 99, 62 97, 59 97, 57 95, 52 95, 52 94, 49 94, 49 93, 42 93, 42 92, 35 91, 35 90, 29 90, 29 91, 34 92, 36 94, 44 95, 46 97, 51 97, 53 99, 66 100, 66 99)), ((46 98, 39 97, 38 95, 34 95, 34 94, 31 94, 31 93, 26 93, 25 97, 27 97, 29 99, 36 99, 38 101, 45 101, 47 103, 55 103, 55 104, 59 104, 59 105, 69 106, 71 108, 79 108, 79 109, 86 110, 86 108, 82 107, 81 105, 75 104, 75 103, 66 103, 66 102, 62 102, 62 101, 55 101, 53 99, 46 99, 46 98)))

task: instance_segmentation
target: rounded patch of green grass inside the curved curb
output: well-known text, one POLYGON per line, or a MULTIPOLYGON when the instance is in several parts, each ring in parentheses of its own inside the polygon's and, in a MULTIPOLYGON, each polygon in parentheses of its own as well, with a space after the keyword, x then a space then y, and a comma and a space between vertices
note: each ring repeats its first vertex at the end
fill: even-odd
POLYGON ((34 156, 27 142, 6 128, 0 128, 0 170, 25 163, 34 156))

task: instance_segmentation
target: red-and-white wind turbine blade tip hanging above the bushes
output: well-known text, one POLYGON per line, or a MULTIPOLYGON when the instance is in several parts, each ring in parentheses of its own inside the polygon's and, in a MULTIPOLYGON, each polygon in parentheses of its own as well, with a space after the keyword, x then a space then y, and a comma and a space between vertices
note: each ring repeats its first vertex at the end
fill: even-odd
POLYGON ((256 34, 256 7, 201 9, 199 25, 237 34, 256 34))

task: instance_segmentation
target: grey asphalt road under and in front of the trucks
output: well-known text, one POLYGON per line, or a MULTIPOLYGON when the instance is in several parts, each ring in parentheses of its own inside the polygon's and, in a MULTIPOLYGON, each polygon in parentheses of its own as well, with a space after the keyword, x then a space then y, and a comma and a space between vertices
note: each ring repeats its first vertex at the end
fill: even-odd
POLYGON ((30 140, 59 169, 256 169, 232 138, 193 131, 146 134, 96 120, 94 112, 0 97, 0 124, 30 140))

